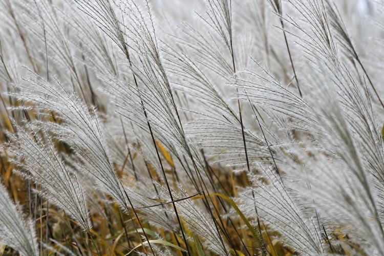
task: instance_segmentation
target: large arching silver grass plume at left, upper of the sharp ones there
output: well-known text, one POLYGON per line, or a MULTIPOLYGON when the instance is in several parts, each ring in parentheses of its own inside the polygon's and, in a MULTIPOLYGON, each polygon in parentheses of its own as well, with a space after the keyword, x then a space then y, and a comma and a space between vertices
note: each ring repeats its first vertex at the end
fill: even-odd
POLYGON ((125 199, 121 185, 110 160, 94 107, 89 109, 78 96, 65 89, 59 81, 55 80, 54 84, 48 83, 34 74, 30 74, 23 84, 16 87, 20 93, 12 96, 35 104, 32 108, 38 111, 38 115, 49 116, 47 113, 56 113, 55 118, 62 121, 61 124, 53 122, 42 124, 49 127, 58 139, 65 141, 75 150, 84 163, 75 167, 91 177, 102 190, 124 206, 125 199))

